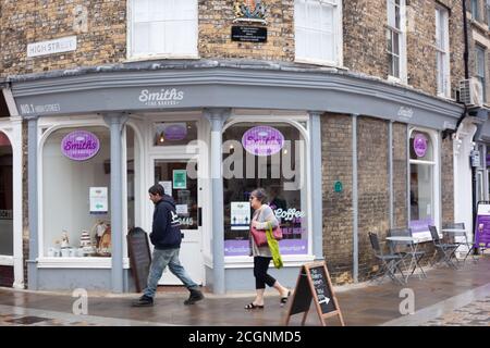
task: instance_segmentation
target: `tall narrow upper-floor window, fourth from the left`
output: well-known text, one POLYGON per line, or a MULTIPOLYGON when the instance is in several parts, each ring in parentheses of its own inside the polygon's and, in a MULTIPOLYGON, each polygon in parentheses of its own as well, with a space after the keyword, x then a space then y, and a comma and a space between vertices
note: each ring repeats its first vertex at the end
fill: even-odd
POLYGON ((436 8, 436 54, 438 96, 450 97, 450 51, 449 51, 449 13, 442 7, 436 8))

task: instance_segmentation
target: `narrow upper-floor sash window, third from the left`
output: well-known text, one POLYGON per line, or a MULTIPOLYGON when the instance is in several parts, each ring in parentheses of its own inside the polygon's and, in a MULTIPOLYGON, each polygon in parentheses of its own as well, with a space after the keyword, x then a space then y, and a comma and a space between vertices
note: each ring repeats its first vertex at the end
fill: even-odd
POLYGON ((388 74, 406 82, 405 0, 388 1, 388 74))

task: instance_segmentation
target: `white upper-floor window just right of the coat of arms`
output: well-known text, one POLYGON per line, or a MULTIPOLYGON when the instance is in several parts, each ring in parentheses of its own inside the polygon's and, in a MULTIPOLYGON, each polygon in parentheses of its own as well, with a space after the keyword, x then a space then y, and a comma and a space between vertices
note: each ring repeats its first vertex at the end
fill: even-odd
POLYGON ((342 65, 342 2, 295 0, 296 61, 342 65))

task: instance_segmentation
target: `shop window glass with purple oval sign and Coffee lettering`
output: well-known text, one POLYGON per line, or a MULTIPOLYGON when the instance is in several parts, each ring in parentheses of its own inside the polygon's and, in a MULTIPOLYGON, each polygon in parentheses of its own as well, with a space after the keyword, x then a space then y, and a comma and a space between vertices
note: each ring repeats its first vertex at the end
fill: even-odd
POLYGON ((248 256, 250 192, 265 188, 280 221, 282 254, 308 253, 306 146, 286 123, 236 123, 223 134, 224 254, 248 256))

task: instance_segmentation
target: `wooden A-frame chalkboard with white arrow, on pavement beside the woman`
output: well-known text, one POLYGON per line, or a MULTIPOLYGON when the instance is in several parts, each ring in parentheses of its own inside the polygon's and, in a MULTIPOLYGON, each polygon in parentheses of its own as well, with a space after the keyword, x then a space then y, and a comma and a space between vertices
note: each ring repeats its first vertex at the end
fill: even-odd
POLYGON ((304 313, 302 325, 305 325, 311 300, 314 300, 314 306, 323 326, 327 325, 324 320, 331 316, 339 316, 341 325, 345 326, 324 262, 307 263, 299 270, 285 324, 289 325, 291 315, 304 313))

